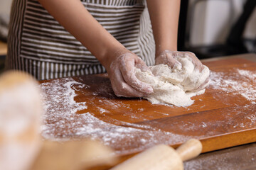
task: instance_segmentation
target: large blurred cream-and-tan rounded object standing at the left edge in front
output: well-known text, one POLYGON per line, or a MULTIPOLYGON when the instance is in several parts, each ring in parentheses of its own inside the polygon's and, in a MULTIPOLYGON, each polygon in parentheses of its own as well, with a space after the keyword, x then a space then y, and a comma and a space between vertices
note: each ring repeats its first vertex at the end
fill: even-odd
POLYGON ((43 112, 37 81, 23 72, 0 77, 0 169, 31 166, 41 148, 43 112))

